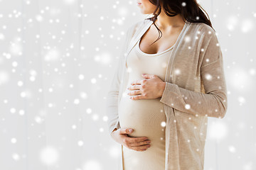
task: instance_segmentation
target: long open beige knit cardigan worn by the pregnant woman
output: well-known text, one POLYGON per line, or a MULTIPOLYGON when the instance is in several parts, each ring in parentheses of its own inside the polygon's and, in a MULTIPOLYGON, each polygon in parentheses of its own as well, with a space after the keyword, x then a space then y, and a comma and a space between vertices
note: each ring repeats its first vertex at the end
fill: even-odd
MULTIPOLYGON (((153 21, 130 26, 107 94, 109 134, 120 128, 118 104, 127 85, 127 55, 153 21)), ((166 114, 165 170, 202 170, 208 117, 223 118, 227 90, 223 56, 213 28, 186 21, 169 57, 161 102, 166 114)), ((120 152, 122 154, 122 145, 120 152)), ((119 170, 123 170, 122 158, 119 170)))

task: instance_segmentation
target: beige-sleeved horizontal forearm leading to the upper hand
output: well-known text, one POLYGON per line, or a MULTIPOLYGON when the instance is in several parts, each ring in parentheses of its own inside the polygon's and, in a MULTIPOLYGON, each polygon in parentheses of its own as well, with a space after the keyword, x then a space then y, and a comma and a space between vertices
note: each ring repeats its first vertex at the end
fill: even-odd
POLYGON ((223 118, 227 110, 227 99, 224 91, 211 94, 190 91, 176 84, 165 82, 161 102, 178 111, 215 118, 223 118))

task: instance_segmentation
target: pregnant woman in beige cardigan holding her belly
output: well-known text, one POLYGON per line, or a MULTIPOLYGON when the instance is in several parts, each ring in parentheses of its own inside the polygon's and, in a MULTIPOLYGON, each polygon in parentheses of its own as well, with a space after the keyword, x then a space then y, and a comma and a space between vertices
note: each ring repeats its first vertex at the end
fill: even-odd
POLYGON ((196 0, 137 5, 154 17, 127 30, 107 95, 119 170, 203 170, 208 117, 228 108, 215 30, 196 0))

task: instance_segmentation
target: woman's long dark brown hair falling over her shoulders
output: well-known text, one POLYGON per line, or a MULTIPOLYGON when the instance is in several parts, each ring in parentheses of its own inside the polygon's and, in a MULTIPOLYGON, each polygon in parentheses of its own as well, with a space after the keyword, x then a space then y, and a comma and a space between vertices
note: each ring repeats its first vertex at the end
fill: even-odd
MULTIPOLYGON (((154 10, 154 13, 153 13, 154 16, 151 18, 146 18, 145 20, 153 21, 154 26, 156 26, 155 21, 157 16, 159 16, 159 14, 161 13, 161 5, 160 5, 160 1, 161 1, 164 7, 164 13, 166 13, 167 16, 176 16, 177 14, 180 14, 182 18, 186 19, 186 21, 189 21, 191 23, 206 23, 208 26, 213 28, 210 22, 208 13, 206 14, 203 13, 203 11, 205 10, 201 7, 200 4, 197 3, 196 0, 183 0, 183 1, 149 0, 149 1, 151 2, 151 4, 154 4, 156 6, 156 9, 154 10), (158 11, 158 13, 156 13, 156 11, 158 11), (206 15, 208 16, 209 19, 206 17, 206 15)), ((161 33, 161 30, 159 30, 157 26, 156 26, 156 29, 161 33)), ((161 38, 161 35, 159 36, 159 38, 157 38, 157 40, 161 38)), ((157 40, 155 40, 154 42, 156 42, 157 40)), ((154 42, 152 44, 154 44, 154 42)))

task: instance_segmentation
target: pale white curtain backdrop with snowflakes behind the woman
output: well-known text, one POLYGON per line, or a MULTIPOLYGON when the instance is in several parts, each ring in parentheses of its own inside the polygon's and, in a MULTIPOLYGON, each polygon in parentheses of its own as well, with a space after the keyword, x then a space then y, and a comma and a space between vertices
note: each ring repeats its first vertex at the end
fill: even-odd
MULTIPOLYGON (((0 169, 108 170, 105 97, 137 1, 0 0, 0 169)), ((228 113, 205 169, 256 169, 255 1, 200 1, 218 33, 228 113)))

